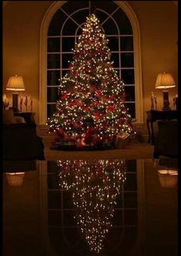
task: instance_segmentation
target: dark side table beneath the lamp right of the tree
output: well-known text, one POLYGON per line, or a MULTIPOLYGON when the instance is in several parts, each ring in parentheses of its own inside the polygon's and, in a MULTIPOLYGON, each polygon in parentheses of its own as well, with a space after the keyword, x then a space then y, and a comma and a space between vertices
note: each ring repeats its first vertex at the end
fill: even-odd
POLYGON ((148 143, 154 145, 153 123, 157 120, 178 120, 178 110, 150 110, 146 111, 146 126, 148 128, 148 143))

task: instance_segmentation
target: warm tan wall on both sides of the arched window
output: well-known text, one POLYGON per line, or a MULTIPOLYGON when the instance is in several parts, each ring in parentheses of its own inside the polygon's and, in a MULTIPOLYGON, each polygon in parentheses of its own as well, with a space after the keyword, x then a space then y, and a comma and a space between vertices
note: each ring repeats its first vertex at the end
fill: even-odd
MULTIPOLYGON (((177 84, 178 7, 173 1, 128 1, 140 22, 143 111, 150 109, 150 92, 162 108, 162 90, 155 89, 156 76, 166 71, 173 74, 177 84)), ((10 1, 3 8, 3 92, 8 77, 19 74, 24 77, 28 93, 34 97, 34 110, 38 122, 39 98, 39 40, 40 26, 51 1, 10 1)), ((170 105, 177 87, 169 89, 170 105)), ((146 129, 144 130, 146 133, 146 129)))

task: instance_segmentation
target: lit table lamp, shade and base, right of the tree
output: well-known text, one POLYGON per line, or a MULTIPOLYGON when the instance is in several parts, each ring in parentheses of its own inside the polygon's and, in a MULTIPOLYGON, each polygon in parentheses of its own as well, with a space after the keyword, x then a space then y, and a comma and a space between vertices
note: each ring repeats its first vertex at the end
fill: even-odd
POLYGON ((160 73, 156 79, 156 89, 163 89, 163 110, 170 110, 168 88, 175 87, 176 83, 173 76, 169 73, 160 73))

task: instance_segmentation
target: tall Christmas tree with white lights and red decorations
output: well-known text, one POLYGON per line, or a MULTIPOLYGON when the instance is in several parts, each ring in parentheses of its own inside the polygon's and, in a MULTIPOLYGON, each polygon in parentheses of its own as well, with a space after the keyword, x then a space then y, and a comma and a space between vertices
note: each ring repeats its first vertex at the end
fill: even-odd
POLYGON ((75 43, 70 71, 61 79, 57 111, 48 119, 59 142, 104 146, 131 133, 123 82, 110 61, 108 40, 94 14, 87 17, 75 43))

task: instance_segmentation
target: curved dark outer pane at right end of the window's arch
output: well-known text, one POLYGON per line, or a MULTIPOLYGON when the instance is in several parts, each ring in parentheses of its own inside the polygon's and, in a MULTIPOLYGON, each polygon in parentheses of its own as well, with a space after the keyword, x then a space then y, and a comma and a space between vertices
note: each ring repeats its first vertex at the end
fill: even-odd
POLYGON ((130 35, 133 34, 130 20, 127 18, 127 15, 121 8, 114 13, 113 18, 116 20, 117 25, 120 29, 120 34, 130 35))

